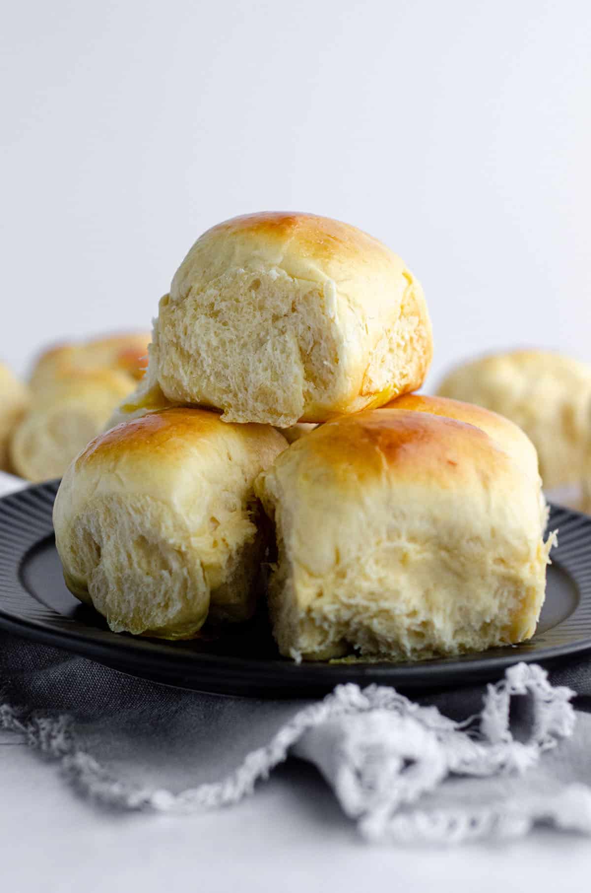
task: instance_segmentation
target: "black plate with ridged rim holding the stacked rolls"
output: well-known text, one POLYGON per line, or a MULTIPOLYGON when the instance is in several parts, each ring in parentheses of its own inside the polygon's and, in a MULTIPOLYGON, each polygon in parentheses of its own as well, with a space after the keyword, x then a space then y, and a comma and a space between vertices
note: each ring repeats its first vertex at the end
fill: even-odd
POLYGON ((436 689, 492 679, 517 661, 591 649, 591 518, 552 507, 560 545, 545 605, 529 642, 422 663, 302 663, 279 657, 262 613, 246 628, 190 642, 133 638, 108 629, 62 580, 52 527, 57 482, 0 499, 0 627, 169 685, 229 695, 310 697, 339 682, 436 689))

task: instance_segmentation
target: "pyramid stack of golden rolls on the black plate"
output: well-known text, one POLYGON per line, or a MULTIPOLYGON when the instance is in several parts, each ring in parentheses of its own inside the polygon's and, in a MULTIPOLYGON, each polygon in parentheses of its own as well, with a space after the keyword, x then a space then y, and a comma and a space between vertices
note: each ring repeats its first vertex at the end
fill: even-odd
POLYGON ((528 638, 552 542, 536 450, 495 413, 412 395, 431 353, 420 284, 375 238, 300 213, 208 230, 146 376, 63 477, 67 585, 112 630, 191 638, 251 616, 268 562, 295 660, 528 638))

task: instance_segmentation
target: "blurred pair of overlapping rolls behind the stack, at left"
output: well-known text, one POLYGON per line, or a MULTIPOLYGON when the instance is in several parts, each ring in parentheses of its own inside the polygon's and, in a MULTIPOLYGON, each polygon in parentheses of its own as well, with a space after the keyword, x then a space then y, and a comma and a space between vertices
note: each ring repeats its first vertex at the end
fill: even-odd
POLYGON ((10 438, 14 472, 27 480, 62 477, 141 379, 149 339, 115 335, 42 354, 29 379, 27 412, 10 438))

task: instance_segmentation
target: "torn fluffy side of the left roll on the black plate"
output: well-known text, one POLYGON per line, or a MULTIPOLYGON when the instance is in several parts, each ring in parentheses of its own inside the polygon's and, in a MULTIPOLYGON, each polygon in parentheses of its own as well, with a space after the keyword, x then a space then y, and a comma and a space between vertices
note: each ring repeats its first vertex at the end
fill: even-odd
POLYGON ((240 622, 254 612, 266 544, 246 511, 231 526, 203 532, 197 546, 183 517, 151 497, 96 499, 72 525, 65 579, 114 632, 193 638, 208 616, 240 622))

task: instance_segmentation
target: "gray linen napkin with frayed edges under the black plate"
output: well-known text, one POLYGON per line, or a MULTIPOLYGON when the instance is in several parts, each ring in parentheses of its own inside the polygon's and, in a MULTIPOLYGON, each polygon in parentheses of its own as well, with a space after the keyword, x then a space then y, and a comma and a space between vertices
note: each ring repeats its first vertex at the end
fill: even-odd
POLYGON ((550 680, 520 663, 495 686, 415 702, 354 685, 274 701, 172 689, 0 631, 0 729, 109 809, 231 805, 296 757, 365 839, 510 838, 538 823, 591 833, 589 705, 591 657, 550 680))

